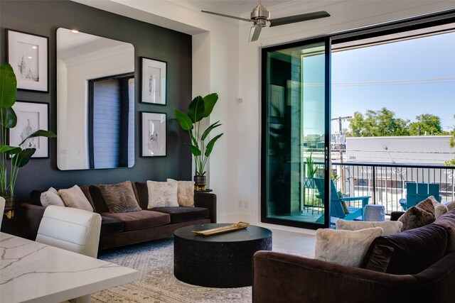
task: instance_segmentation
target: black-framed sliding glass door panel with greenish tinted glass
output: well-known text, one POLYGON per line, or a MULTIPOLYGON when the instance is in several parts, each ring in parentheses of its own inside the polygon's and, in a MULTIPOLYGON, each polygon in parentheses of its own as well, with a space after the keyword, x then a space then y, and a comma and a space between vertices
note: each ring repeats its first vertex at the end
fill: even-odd
POLYGON ((330 39, 263 48, 263 222, 328 226, 329 123, 330 39))

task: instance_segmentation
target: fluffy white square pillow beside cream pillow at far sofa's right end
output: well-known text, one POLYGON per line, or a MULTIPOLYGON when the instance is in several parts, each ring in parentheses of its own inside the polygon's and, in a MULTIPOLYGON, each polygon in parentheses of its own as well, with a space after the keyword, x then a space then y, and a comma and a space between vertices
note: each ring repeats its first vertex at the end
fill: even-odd
POLYGON ((149 209, 154 207, 176 206, 177 201, 176 180, 169 179, 167 182, 147 181, 147 189, 149 191, 149 209))

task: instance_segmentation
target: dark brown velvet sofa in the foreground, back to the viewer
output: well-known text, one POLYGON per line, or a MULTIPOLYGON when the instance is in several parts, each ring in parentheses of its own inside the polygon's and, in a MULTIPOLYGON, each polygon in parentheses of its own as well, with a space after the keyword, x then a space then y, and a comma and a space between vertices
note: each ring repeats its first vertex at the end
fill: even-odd
POLYGON ((259 251, 253 302, 455 302, 455 209, 427 226, 376 238, 364 265, 259 251))

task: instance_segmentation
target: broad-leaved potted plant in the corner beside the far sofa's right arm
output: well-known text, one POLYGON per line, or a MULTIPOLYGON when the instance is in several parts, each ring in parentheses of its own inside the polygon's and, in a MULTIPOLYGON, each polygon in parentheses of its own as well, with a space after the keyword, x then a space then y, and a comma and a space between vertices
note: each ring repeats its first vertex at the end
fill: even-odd
POLYGON ((223 133, 220 133, 208 143, 205 143, 205 139, 208 138, 210 132, 221 126, 221 124, 220 121, 216 121, 205 130, 200 125, 204 118, 210 116, 216 101, 218 101, 218 94, 216 93, 208 94, 205 97, 198 96, 188 106, 188 114, 178 109, 173 111, 181 128, 183 131, 188 131, 188 135, 191 138, 191 143, 185 144, 189 146, 194 156, 194 166, 196 167, 194 183, 196 190, 205 190, 205 164, 210 153, 212 153, 215 142, 223 136, 223 133))

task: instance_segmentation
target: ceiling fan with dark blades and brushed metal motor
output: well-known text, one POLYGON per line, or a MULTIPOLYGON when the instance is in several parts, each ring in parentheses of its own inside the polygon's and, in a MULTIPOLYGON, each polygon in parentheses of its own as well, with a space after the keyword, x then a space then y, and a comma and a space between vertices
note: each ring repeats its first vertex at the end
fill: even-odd
POLYGON ((253 26, 250 30, 250 40, 249 40, 250 42, 256 41, 259 38, 259 34, 261 33, 262 28, 267 26, 267 21, 269 21, 270 27, 272 27, 272 26, 282 26, 284 24, 289 24, 289 23, 296 23, 296 22, 301 22, 301 21, 325 18, 325 17, 330 16, 330 14, 327 13, 326 11, 315 11, 314 13, 302 13, 301 15, 271 19, 269 10, 267 9, 267 7, 265 7, 261 4, 261 0, 259 0, 259 4, 257 4, 257 6, 252 10, 250 19, 230 16, 230 15, 226 15, 224 13, 215 13, 213 11, 202 10, 202 12, 211 13, 213 15, 227 17, 227 18, 233 18, 233 19, 237 19, 237 20, 241 20, 241 21, 252 22, 253 26))

